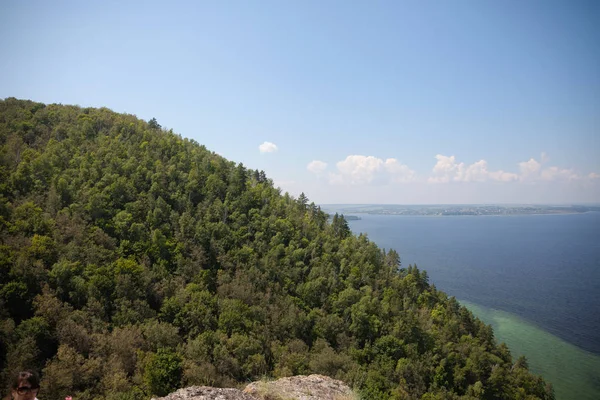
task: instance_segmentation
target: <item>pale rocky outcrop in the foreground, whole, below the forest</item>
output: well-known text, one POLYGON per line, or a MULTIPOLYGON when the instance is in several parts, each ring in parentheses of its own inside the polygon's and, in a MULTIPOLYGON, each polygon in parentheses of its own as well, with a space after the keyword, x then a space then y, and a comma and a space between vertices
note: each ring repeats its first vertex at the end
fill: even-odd
POLYGON ((153 400, 355 400, 342 381, 323 375, 292 376, 276 381, 258 381, 238 389, 192 386, 153 400))

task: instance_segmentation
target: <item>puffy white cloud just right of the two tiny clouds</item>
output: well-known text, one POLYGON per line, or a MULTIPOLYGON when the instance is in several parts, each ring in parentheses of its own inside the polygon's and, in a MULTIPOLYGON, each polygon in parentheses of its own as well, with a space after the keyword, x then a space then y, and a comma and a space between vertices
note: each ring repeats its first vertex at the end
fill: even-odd
POLYGON ((381 158, 363 155, 349 155, 336 163, 337 172, 329 174, 333 184, 385 184, 388 182, 409 182, 415 172, 395 158, 385 161, 381 158))

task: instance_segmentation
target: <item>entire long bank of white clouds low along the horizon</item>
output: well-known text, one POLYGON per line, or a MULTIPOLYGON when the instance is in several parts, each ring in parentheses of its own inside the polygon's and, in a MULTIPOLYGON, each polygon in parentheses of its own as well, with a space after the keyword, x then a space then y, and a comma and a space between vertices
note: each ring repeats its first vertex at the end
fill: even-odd
POLYGON ((323 167, 315 163, 307 169, 320 171, 321 179, 311 182, 310 188, 298 185, 294 193, 298 195, 301 186, 321 203, 567 203, 600 199, 600 171, 583 174, 552 166, 544 153, 537 159, 515 162, 509 172, 492 169, 485 159, 470 164, 442 154, 435 159, 429 175, 417 174, 394 158, 350 155, 323 167), (333 184, 337 185, 334 190, 333 184))

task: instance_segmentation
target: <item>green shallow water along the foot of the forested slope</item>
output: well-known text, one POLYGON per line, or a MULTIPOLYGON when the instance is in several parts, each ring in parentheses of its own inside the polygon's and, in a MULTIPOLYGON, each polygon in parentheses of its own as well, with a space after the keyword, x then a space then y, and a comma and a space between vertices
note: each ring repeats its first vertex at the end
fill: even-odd
POLYGON ((600 399, 600 356, 581 350, 514 314, 464 300, 460 303, 492 325, 496 340, 508 345, 514 359, 525 355, 529 369, 552 383, 557 400, 600 399))

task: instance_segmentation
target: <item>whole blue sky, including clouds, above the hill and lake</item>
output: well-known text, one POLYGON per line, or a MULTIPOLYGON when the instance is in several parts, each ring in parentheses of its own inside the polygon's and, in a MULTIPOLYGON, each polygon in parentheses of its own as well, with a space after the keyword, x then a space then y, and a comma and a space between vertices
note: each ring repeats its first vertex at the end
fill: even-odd
POLYGON ((0 98, 331 203, 600 203, 600 2, 0 0, 0 98))

